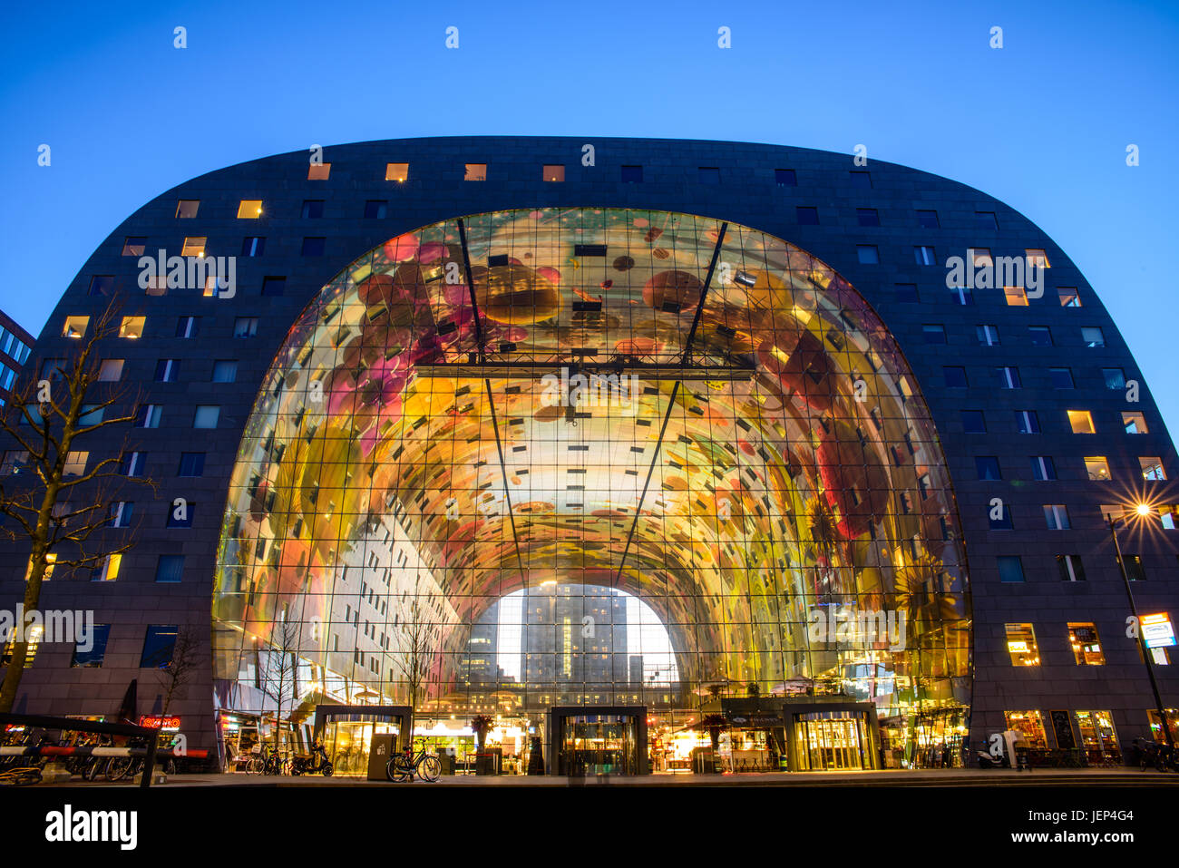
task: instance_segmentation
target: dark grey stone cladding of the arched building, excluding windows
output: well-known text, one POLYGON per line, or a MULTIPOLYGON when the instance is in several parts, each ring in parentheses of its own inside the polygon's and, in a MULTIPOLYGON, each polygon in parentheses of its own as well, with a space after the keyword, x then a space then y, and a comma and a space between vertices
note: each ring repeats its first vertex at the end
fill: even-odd
MULTIPOLYGON (((99 245, 71 282, 29 366, 62 355, 64 318, 97 314, 105 303, 87 295, 92 275, 113 275, 125 313, 146 315, 141 340, 112 341, 104 353, 127 360, 124 377, 144 393, 144 401, 163 406, 158 429, 137 430, 149 454, 147 474, 160 484, 159 495, 138 498, 143 524, 137 547, 124 559, 118 580, 85 583, 54 580, 46 585, 42 609, 93 609, 98 623, 111 624, 106 662, 100 669, 72 669, 71 649, 45 646, 25 675, 18 708, 48 714, 111 715, 131 678, 139 679, 140 710, 158 708, 158 678, 138 668, 145 629, 150 624, 208 626, 213 564, 226 486, 243 426, 259 382, 297 314, 320 289, 355 257, 419 226, 456 216, 532 206, 630 206, 665 209, 723 218, 757 228, 819 257, 847 277, 880 313, 908 357, 929 405, 949 462, 969 558, 974 596, 974 714, 971 742, 1003 729, 1005 710, 1040 710, 1053 743, 1048 711, 1108 710, 1120 739, 1147 729, 1153 706, 1146 673, 1134 640, 1127 638, 1125 592, 1108 530, 1099 511, 1118 495, 1141 489, 1139 456, 1159 456, 1168 474, 1179 473, 1175 452, 1145 383, 1141 401, 1128 405, 1124 392, 1105 387, 1102 368, 1122 368, 1127 379, 1141 375, 1128 348, 1076 267, 1043 231, 1002 202, 962 184, 878 160, 856 166, 851 154, 738 142, 673 139, 459 137, 365 142, 327 146, 323 159, 330 178, 309 180, 307 151, 266 157, 210 172, 158 196, 119 225, 99 245), (595 165, 581 165, 581 147, 593 144, 595 165), (386 163, 408 163, 403 184, 384 180, 386 163), (487 180, 463 180, 463 164, 488 164, 487 180), (566 166, 565 183, 541 180, 541 165, 566 166), (641 165, 641 183, 621 183, 620 166, 641 165), (700 182, 699 167, 718 167, 719 185, 700 182), (779 186, 776 169, 792 169, 797 186, 779 186), (855 171, 870 173, 870 189, 857 185, 855 171), (199 199, 196 218, 174 216, 178 199, 199 199), (262 199, 257 221, 236 218, 241 199, 262 199), (303 219, 304 199, 323 199, 320 219, 303 219), (386 219, 364 219, 364 204, 389 203, 386 219), (799 225, 796 206, 818 210, 818 225, 799 225), (876 209, 880 226, 861 226, 857 208, 876 209), (917 210, 935 210, 938 228, 921 228, 917 210), (997 229, 980 229, 976 211, 994 212, 997 229), (137 257, 123 257, 127 236, 144 236, 147 251, 179 254, 185 236, 206 236, 209 255, 237 255, 245 236, 264 236, 265 255, 238 259, 238 290, 232 300, 204 298, 196 291, 172 290, 150 297, 137 285, 137 257), (301 256, 303 237, 325 237, 322 257, 301 256), (876 245, 880 264, 861 264, 858 244, 876 245), (933 245, 934 265, 918 265, 914 246, 933 245), (1052 268, 1043 297, 1029 307, 1008 307, 1000 290, 975 290, 974 305, 959 304, 946 289, 948 256, 966 256, 969 246, 989 248, 995 256, 1043 249, 1052 268), (285 294, 262 296, 265 276, 284 276, 285 294), (916 284, 920 303, 898 300, 896 284, 916 284), (1058 287, 1075 287, 1084 307, 1061 307, 1058 287), (199 316, 197 340, 174 337, 179 316, 199 316), (258 317, 257 335, 233 338, 237 317, 258 317), (947 343, 928 344, 924 324, 943 324, 947 343), (1001 344, 981 346, 975 327, 999 327, 1001 344), (1052 346, 1033 346, 1028 326, 1048 326, 1052 346), (1086 347, 1082 327, 1100 327, 1104 348, 1086 347), (178 382, 153 382, 158 359, 180 359, 178 382), (237 381, 211 382, 217 359, 239 361, 237 381), (943 366, 962 366, 968 388, 947 388, 943 366), (1002 390, 994 368, 1016 366, 1019 390, 1002 390), (1054 389, 1050 367, 1072 369, 1075 388, 1054 389), (216 430, 193 430, 196 405, 220 409, 216 430), (986 414, 986 434, 966 434, 961 410, 986 414), (1015 410, 1034 409, 1042 433, 1021 435, 1015 410), (1088 409, 1096 434, 1073 434, 1066 409, 1088 409), (1145 414, 1150 433, 1126 435, 1121 412, 1145 414), (206 452, 204 475, 177 478, 182 452, 206 452), (976 455, 997 456, 1002 480, 977 480, 976 455), (1033 481, 1029 456, 1050 455, 1059 480, 1033 481), (1089 481, 1082 458, 1105 455, 1113 482, 1089 481), (1137 482, 1132 485, 1132 482, 1137 482), (196 504, 191 530, 164 527, 165 501, 185 497, 196 504), (992 498, 1010 506, 1015 530, 990 531, 992 498), (150 501, 150 502, 149 502, 150 501), (1042 506, 1068 507, 1072 530, 1047 531, 1042 506), (179 584, 157 584, 163 553, 185 555, 179 584), (1079 554, 1087 580, 1065 583, 1055 555, 1079 554), (1022 584, 1001 583, 997 555, 1020 555, 1022 584), (1042 665, 1010 664, 1005 624, 1030 622, 1042 665), (1079 666, 1069 647, 1068 623, 1093 622, 1105 649, 1105 666, 1079 666)), ((1109 291, 1118 291, 1112 287, 1109 291)), ((32 370, 32 368, 29 368, 32 370)), ((107 441, 94 439, 92 452, 117 452, 124 432, 107 441)), ((1150 485, 1150 484, 1146 484, 1150 485)), ((1154 484, 1162 486, 1165 484, 1154 484)), ((114 532, 112 532, 114 533, 114 532)), ((1124 533, 1128 553, 1140 554, 1147 580, 1135 593, 1141 611, 1179 614, 1179 571, 1175 534, 1148 537, 1124 533)), ((24 574, 20 551, 0 552, 2 599, 15 603, 24 574)), ((8 604, 5 604, 8 605, 8 604)), ((1179 657, 1175 658, 1179 663, 1179 657)), ((1158 669, 1164 703, 1179 705, 1179 665, 1158 669)), ((173 706, 184 716, 191 747, 210 747, 213 728, 211 675, 208 664, 173 706)))

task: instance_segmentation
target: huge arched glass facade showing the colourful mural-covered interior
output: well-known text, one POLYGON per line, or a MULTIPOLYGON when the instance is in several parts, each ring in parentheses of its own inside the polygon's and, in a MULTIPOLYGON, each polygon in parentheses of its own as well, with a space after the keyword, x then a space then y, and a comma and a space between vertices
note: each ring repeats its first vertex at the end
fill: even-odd
MULTIPOLYGON (((969 710, 960 540, 913 375, 824 263, 684 213, 452 219, 345 268, 264 380, 217 702, 294 732, 320 703, 487 716, 505 757, 585 706, 571 749, 630 765, 724 697, 844 697, 911 752, 969 710), (593 711, 623 705, 648 744, 593 711)), ((797 731, 849 768, 867 738, 797 731)))

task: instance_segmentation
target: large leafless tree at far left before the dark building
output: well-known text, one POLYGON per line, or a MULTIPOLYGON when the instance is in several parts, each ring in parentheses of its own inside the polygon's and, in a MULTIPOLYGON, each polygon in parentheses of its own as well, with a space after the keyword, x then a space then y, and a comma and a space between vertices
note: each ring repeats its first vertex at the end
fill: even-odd
MULTIPOLYGON (((106 415, 125 397, 118 388, 92 393, 99 382, 100 344, 118 333, 119 317, 112 303, 95 317, 77 350, 54 367, 52 379, 24 377, 8 412, 0 415, 2 439, 14 441, 27 455, 21 459, 27 472, 0 479, 0 515, 11 519, 0 532, 14 542, 29 544, 26 612, 39 607, 41 583, 51 568, 92 568, 133 545, 131 540, 121 545, 90 541, 95 531, 108 526, 108 502, 101 491, 104 482, 124 479, 118 473, 119 455, 97 461, 81 473, 74 473, 71 461, 71 453, 84 447, 94 432, 134 420, 134 401, 129 415, 106 415), (77 500, 71 501, 72 497, 77 500)), ((144 478, 132 481, 154 488, 144 478)), ((0 688, 0 711, 12 711, 28 656, 24 631, 13 638, 0 688)))

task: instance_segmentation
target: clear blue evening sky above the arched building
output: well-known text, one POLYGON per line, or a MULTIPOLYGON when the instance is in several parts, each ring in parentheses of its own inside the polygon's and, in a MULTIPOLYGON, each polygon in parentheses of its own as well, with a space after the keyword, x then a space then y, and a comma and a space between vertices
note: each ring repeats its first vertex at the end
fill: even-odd
POLYGON ((870 159, 970 184, 1038 223, 1109 308, 1164 417, 1179 420, 1167 373, 1179 5, 203 0, 45 2, 5 18, 0 307, 34 334, 145 202, 312 143, 863 143, 870 159), (448 26, 457 51, 443 45, 448 26), (730 50, 717 47, 720 26, 730 50), (988 46, 993 26, 1001 50, 988 46))

